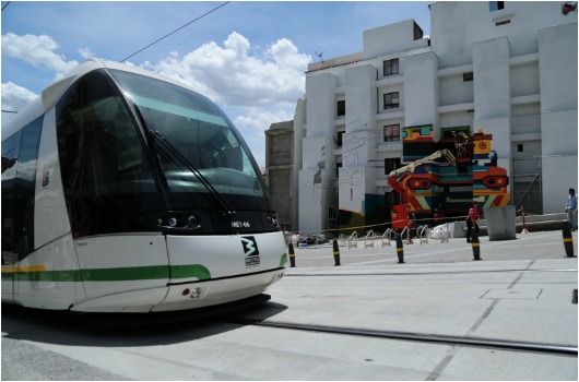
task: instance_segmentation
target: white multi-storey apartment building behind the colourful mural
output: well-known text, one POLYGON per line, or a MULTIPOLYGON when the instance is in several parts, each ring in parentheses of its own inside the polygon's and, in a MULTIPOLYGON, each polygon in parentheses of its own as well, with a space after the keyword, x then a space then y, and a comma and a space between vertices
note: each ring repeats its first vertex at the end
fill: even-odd
POLYGON ((402 21, 364 31, 362 52, 309 64, 293 123, 297 229, 332 228, 338 210, 342 225, 383 222, 402 129, 417 126, 435 142, 448 127, 493 134, 510 203, 562 212, 578 178, 577 12, 564 4, 436 2, 429 37, 402 21))

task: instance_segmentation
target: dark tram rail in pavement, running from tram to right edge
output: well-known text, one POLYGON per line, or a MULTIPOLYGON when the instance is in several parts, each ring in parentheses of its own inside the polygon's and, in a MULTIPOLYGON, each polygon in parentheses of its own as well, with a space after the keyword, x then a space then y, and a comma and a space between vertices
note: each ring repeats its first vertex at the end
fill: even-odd
POLYGON ((437 345, 450 345, 450 346, 464 346, 464 347, 478 347, 478 348, 491 348, 510 351, 530 351, 541 353, 551 355, 564 355, 570 357, 577 357, 578 348, 569 345, 556 345, 556 344, 542 344, 532 342, 517 342, 517 341, 503 341, 494 338, 477 338, 468 336, 452 336, 452 335, 439 335, 439 334, 424 334, 424 333, 410 333, 410 332, 394 332, 383 330, 368 330, 361 327, 343 327, 332 325, 318 325, 318 324, 305 324, 295 322, 281 322, 281 321, 256 321, 250 319, 229 319, 227 323, 239 324, 239 325, 251 325, 259 327, 281 329, 281 330, 293 330, 300 332, 312 332, 312 333, 327 333, 336 335, 351 335, 358 337, 371 337, 381 339, 394 339, 394 341, 412 341, 427 344, 437 345))

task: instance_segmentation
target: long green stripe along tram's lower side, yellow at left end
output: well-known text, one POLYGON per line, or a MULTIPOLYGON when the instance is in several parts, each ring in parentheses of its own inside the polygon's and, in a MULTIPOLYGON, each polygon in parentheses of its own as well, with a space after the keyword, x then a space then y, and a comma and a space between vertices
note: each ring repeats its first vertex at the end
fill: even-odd
POLYGON ((2 279, 19 282, 130 282, 139 279, 161 279, 196 277, 200 280, 211 279, 211 272, 200 264, 127 266, 115 268, 85 268, 74 271, 19 271, 2 272, 2 279))

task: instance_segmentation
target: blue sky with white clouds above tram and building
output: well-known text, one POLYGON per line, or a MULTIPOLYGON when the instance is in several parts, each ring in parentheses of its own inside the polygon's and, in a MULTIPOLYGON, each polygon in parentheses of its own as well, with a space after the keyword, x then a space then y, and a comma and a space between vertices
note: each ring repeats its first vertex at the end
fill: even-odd
POLYGON ((21 110, 98 57, 172 76, 210 97, 264 168, 264 131, 293 119, 308 63, 318 55, 359 52, 364 31, 400 21, 413 19, 429 35, 429 3, 2 1, 2 124, 14 117, 4 111, 21 110))

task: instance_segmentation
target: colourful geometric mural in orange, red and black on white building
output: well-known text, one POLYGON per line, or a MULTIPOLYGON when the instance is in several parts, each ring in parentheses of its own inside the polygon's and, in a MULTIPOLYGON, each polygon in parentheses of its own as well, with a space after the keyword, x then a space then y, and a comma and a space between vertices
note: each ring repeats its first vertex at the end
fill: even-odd
POLYGON ((507 170, 497 166, 492 134, 482 130, 471 134, 469 127, 440 132, 440 141, 434 142, 432 126, 403 130, 406 166, 388 178, 400 194, 400 204, 391 210, 394 228, 404 228, 409 219, 432 225, 435 208, 445 217, 461 217, 473 200, 480 208, 504 206, 510 200, 509 178, 507 170))

